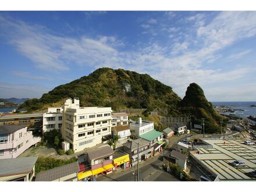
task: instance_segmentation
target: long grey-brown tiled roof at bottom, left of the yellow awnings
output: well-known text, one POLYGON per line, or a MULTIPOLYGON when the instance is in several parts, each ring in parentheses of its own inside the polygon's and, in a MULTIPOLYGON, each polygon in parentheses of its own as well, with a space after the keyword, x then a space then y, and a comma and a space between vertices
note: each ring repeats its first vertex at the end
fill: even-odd
POLYGON ((77 172, 79 172, 78 161, 37 173, 35 177, 35 182, 51 182, 53 180, 56 180, 61 177, 65 177, 67 175, 71 175, 77 172))

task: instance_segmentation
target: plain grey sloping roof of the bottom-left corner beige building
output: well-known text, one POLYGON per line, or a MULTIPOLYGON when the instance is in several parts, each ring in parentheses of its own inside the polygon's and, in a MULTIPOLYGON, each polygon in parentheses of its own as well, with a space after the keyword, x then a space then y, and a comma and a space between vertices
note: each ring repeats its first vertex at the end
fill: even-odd
POLYGON ((0 159, 0 177, 31 172, 37 157, 0 159))

